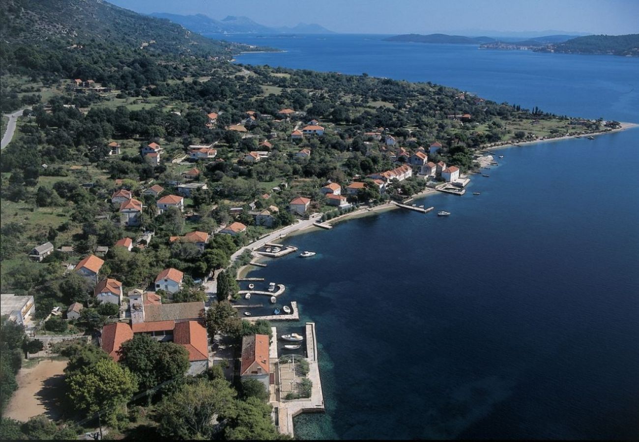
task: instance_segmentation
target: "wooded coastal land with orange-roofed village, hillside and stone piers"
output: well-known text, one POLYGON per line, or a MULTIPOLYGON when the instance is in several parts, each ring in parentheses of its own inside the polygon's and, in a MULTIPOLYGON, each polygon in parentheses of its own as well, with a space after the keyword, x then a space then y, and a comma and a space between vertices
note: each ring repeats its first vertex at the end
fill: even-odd
POLYGON ((463 195, 493 149, 626 127, 229 63, 263 48, 67 3, 0 7, 3 439, 293 438, 325 408, 322 325, 250 268, 312 259, 296 231, 433 210, 413 199, 463 195))

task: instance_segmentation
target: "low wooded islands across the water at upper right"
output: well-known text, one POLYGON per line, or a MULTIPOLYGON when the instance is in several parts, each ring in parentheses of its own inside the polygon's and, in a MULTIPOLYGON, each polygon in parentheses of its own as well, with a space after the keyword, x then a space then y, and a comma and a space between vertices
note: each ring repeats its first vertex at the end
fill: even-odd
POLYGON ((384 39, 387 42, 447 43, 479 45, 480 49, 533 50, 564 54, 610 54, 639 56, 639 34, 627 35, 547 35, 535 38, 500 39, 448 34, 402 34, 384 39))

